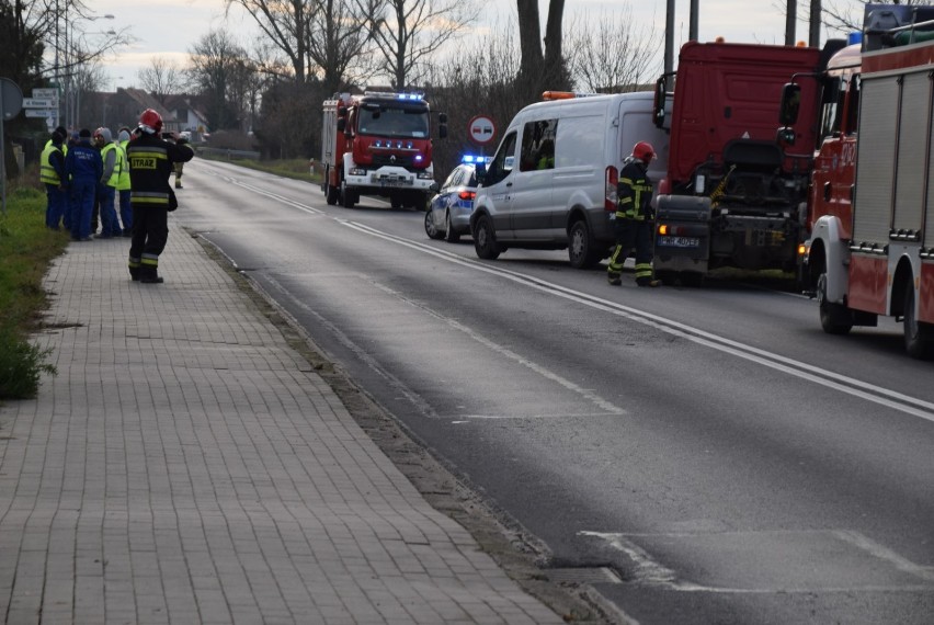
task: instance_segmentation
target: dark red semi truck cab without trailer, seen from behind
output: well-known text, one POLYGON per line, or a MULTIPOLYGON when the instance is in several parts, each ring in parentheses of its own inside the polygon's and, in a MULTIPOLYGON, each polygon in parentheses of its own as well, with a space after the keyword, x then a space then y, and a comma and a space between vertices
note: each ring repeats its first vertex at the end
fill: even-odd
MULTIPOLYGON (((663 282, 699 284, 721 266, 794 270, 817 123, 815 111, 802 110, 810 117, 796 138, 808 148, 778 141, 779 96, 789 76, 820 71, 843 45, 681 48, 677 71, 656 84, 656 125, 671 133, 656 221, 654 268, 663 282), (663 103, 672 99, 668 117, 663 103)), ((813 98, 817 87, 802 90, 813 98)))

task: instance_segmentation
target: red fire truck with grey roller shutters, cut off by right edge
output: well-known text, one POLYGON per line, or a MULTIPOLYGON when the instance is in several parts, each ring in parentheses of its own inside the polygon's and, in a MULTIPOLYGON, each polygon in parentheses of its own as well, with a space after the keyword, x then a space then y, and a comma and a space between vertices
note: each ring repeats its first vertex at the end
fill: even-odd
MULTIPOLYGON (((801 250, 824 331, 895 317, 914 357, 934 356, 932 71, 934 8, 867 5, 862 44, 816 81, 824 138, 801 250)), ((801 123, 804 82, 785 88, 782 133, 801 123)))

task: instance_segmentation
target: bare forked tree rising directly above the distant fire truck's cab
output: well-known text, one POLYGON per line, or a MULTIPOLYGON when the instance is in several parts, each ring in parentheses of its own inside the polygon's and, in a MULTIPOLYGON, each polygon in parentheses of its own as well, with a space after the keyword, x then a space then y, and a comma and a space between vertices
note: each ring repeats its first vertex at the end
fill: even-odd
POLYGON ((478 14, 472 0, 385 0, 373 15, 369 34, 392 88, 421 82, 434 53, 478 14))

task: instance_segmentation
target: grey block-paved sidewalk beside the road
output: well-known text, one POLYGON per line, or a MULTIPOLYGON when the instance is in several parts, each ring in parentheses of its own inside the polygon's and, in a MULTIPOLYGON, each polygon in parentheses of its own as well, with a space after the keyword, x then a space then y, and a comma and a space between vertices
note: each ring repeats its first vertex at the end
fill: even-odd
POLYGON ((5 623, 561 623, 435 511, 201 243, 71 243, 0 407, 5 623))

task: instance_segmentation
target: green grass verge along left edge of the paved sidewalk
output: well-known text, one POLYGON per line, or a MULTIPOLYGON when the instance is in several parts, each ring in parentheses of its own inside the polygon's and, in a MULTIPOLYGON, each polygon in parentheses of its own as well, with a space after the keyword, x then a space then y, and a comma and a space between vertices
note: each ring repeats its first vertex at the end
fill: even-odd
POLYGON ((41 375, 56 373, 50 350, 30 342, 48 308, 43 277, 69 241, 67 231, 45 227, 45 206, 42 191, 10 186, 0 214, 0 399, 35 397, 41 375))

